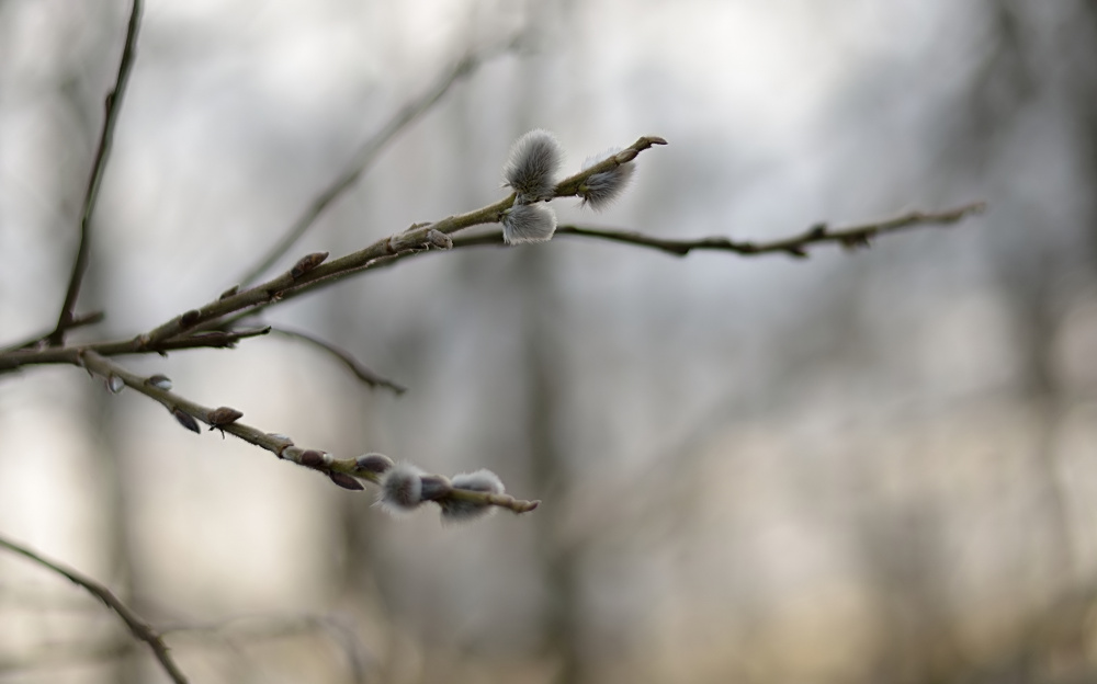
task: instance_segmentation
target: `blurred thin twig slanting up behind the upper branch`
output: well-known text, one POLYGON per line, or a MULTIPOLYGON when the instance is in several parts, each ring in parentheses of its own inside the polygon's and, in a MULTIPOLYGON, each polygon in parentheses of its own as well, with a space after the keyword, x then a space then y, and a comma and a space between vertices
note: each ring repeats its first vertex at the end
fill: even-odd
POLYGON ((431 87, 423 93, 419 94, 406 102, 404 106, 397 110, 393 116, 381 127, 376 133, 374 133, 369 140, 366 140, 354 158, 351 160, 347 170, 343 171, 338 178, 332 181, 331 185, 327 190, 321 192, 308 208, 297 217, 297 220, 291 225, 282 238, 271 248, 263 259, 252 266, 247 273, 240 276, 240 284, 242 287, 247 287, 256 282, 260 275, 267 272, 268 269, 274 265, 279 259, 282 259, 290 251, 297 240, 301 239, 303 235, 316 223, 316 219, 335 202, 339 196, 341 196, 348 189, 350 189, 362 174, 370 168, 373 161, 377 158, 385 146, 393 140, 402 130, 414 123, 417 118, 429 112, 444 95, 450 91, 450 89, 461 79, 472 75, 482 64, 495 57, 496 55, 509 50, 514 46, 516 41, 509 41, 507 43, 491 46, 479 53, 473 53, 466 55, 453 65, 446 72, 440 75, 438 79, 431 84, 431 87))

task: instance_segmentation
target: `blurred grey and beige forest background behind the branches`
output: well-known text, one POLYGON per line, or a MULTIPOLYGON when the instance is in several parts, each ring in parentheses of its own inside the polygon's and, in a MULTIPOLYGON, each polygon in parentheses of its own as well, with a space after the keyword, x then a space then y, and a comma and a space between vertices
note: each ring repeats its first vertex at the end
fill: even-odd
MULTIPOLYGON (((0 345, 56 321, 128 2, 0 0, 0 345)), ((0 534, 98 579, 193 682, 1097 677, 1097 5, 1084 0, 151 0, 71 338, 238 282, 402 103, 287 255, 658 135, 562 223, 772 239, 983 200, 808 260, 558 236, 273 307, 298 340, 123 358, 340 456, 538 498, 393 520, 71 366, 0 377, 0 534)), ((0 554, 0 681, 168 681, 113 615, 0 554)))

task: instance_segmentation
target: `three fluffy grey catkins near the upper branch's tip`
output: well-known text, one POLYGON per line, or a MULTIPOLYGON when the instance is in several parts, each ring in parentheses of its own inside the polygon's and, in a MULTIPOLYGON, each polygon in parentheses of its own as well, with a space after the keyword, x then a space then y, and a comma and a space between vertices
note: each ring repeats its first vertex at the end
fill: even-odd
MULTIPOLYGON (((613 149, 589 157, 583 170, 618 151, 613 149)), ((545 203, 556 197, 556 174, 563 161, 564 152, 556 136, 542 128, 527 133, 511 146, 502 170, 506 185, 514 191, 514 204, 502 216, 502 238, 507 244, 552 239, 556 232, 556 214, 545 203)), ((606 207, 629 184, 633 170, 633 162, 629 160, 587 176, 578 189, 584 206, 596 210, 606 207)))

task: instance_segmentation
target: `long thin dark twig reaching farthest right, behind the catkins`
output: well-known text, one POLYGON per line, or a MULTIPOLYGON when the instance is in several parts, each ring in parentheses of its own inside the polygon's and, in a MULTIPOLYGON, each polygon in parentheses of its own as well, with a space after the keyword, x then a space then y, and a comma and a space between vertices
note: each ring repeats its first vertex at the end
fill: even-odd
MULTIPOLYGON (((770 242, 737 241, 721 236, 698 239, 658 238, 633 230, 612 230, 607 228, 589 228, 585 226, 559 226, 556 235, 569 235, 583 238, 598 238, 613 242, 623 242, 637 247, 657 249, 677 256, 685 256, 693 250, 713 250, 735 252, 747 256, 756 254, 784 253, 798 259, 808 255, 808 247, 823 242, 837 242, 847 249, 869 247, 872 238, 896 232, 917 226, 947 226, 955 224, 968 216, 980 214, 986 209, 986 204, 975 202, 945 212, 912 212, 886 220, 861 224, 847 228, 829 228, 818 224, 804 232, 770 242)), ((488 232, 477 236, 465 236, 453 239, 453 247, 502 246, 501 232, 488 232)))

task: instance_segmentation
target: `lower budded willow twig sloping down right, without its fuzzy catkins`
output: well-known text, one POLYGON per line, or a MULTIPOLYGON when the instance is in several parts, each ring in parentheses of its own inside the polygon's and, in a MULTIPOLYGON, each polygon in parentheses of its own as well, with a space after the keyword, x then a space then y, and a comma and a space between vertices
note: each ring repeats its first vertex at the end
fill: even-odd
MULTIPOLYGON (((118 391, 122 387, 129 387, 158 401, 168 409, 168 412, 172 414, 180 425, 192 432, 201 433, 202 430, 199 423, 205 423, 210 426, 210 430, 217 430, 223 434, 228 433, 248 444, 267 449, 282 460, 289 460, 326 475, 332 482, 344 489, 364 489, 358 480, 366 480, 374 485, 381 483, 381 474, 364 468, 358 458, 333 458, 330 454, 320 449, 305 449, 296 446, 293 440, 285 435, 267 433, 258 428, 239 422, 244 413, 236 409, 229 407, 204 407, 170 389, 165 389, 165 385, 157 381, 155 376, 144 377, 132 373, 124 366, 95 352, 84 351, 78 360, 78 365, 102 377, 106 380, 106 386, 113 391, 118 391)), ((508 494, 467 491, 456 488, 450 488, 445 491, 440 490, 438 495, 432 499, 432 501, 439 503, 448 500, 494 505, 508 509, 514 513, 532 511, 540 504, 540 501, 525 501, 508 494)))

